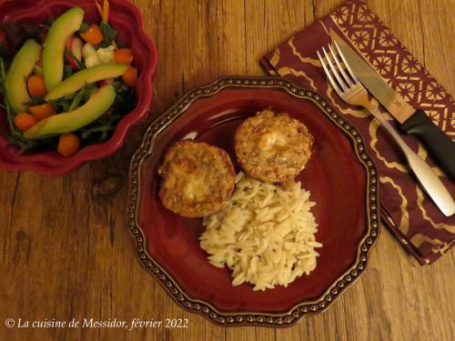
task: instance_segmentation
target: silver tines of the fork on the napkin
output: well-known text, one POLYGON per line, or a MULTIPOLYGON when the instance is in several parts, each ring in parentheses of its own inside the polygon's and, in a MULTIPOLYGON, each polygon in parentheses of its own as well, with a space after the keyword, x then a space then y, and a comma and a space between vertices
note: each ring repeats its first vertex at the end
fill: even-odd
POLYGON ((359 79, 356 77, 356 75, 354 75, 351 68, 349 67, 346 58, 339 50, 339 45, 337 45, 336 42, 332 42, 332 45, 335 46, 336 51, 334 51, 332 46, 329 44, 329 53, 327 53, 326 49, 322 47, 322 52, 325 58, 319 54, 319 51, 317 51, 317 53, 319 56, 320 64, 324 68, 324 71, 329 78, 330 84, 338 94, 341 94, 349 89, 349 87, 352 85, 359 83, 359 79), (341 61, 339 60, 339 57, 341 58, 341 61))

